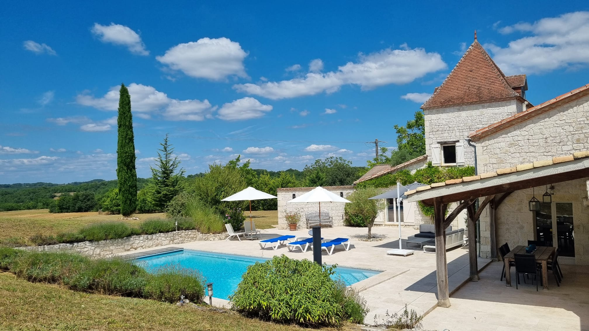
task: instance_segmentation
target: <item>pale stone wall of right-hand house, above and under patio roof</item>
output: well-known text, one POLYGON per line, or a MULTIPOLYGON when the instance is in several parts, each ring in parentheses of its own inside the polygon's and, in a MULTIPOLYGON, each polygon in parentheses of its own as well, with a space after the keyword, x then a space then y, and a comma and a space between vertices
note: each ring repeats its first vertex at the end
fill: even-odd
MULTIPOLYGON (((477 141, 479 173, 589 150, 588 138, 589 97, 583 97, 477 141)), ((576 264, 589 264, 589 208, 583 204, 587 179, 555 183, 552 196, 553 202, 573 203, 576 264)), ((535 188, 535 196, 541 200, 544 191, 544 187, 535 188)), ((531 189, 515 191, 499 206, 495 213, 498 244, 507 242, 512 247, 534 239, 533 213, 528 210, 531 198, 531 189)), ((480 219, 482 257, 491 256, 488 216, 485 208, 480 219)))

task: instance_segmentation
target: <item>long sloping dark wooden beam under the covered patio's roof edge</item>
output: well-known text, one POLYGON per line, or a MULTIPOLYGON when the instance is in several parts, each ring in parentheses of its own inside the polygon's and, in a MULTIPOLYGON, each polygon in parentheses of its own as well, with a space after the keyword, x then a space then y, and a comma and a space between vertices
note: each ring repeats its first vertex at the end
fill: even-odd
MULTIPOLYGON (((474 198, 487 197, 487 196, 492 196, 492 195, 499 194, 499 193, 507 193, 507 192, 511 192, 511 191, 524 190, 525 188, 544 186, 544 185, 554 184, 554 183, 561 183, 562 181, 570 181, 570 180, 575 180, 575 179, 585 178, 585 177, 589 177, 589 168, 585 168, 585 169, 581 169, 581 170, 574 170, 574 171, 567 171, 564 173, 551 174, 551 175, 547 175, 547 176, 540 177, 540 178, 531 178, 531 179, 530 178, 522 178, 521 181, 515 181, 512 183, 508 183, 508 184, 500 184, 500 185, 495 185, 495 186, 483 187, 483 188, 478 188, 476 190, 470 190, 470 191, 465 191, 465 192, 460 192, 460 193, 446 194, 445 196, 440 196, 438 198, 441 199, 440 203, 453 203, 456 201, 463 201, 463 200, 470 200, 470 199, 474 199, 474 198)), ((475 182, 469 182, 469 183, 475 183, 475 182)), ((455 184, 455 185, 459 185, 459 184, 455 184)), ((451 186, 444 186, 444 187, 448 188, 451 186)), ((424 191, 424 192, 426 192, 426 191, 424 191)), ((411 196, 409 196, 409 197, 411 197, 411 196)), ((421 202, 423 204, 425 204, 426 206, 434 206, 434 198, 424 199, 424 200, 421 200, 421 202)))

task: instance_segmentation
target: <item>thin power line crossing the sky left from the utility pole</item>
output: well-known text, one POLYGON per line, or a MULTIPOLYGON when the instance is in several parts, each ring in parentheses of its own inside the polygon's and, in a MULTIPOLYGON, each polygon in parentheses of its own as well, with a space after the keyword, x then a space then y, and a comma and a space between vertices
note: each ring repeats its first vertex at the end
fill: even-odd
MULTIPOLYGON (((74 128, 55 128, 55 127, 39 127, 35 125, 24 124, 0 124, 2 127, 19 127, 28 128, 31 130, 58 130, 58 131, 74 131, 84 133, 105 133, 116 134, 114 131, 97 131, 97 130, 81 130, 74 128)), ((144 137, 164 137, 165 134, 155 133, 135 133, 144 137)), ((201 139, 201 140, 223 140, 223 141, 260 141, 266 143, 319 143, 319 144, 365 144, 364 141, 319 141, 319 140, 277 140, 277 139, 252 139, 252 138, 228 138, 228 137, 199 137, 194 135, 168 135, 171 138, 186 138, 186 139, 201 139)))

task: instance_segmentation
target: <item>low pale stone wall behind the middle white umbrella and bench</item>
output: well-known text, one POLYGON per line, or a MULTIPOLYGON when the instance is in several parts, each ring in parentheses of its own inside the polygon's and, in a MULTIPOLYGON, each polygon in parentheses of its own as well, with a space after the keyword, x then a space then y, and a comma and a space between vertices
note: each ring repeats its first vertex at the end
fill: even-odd
MULTIPOLYGON (((284 213, 299 213, 301 221, 299 223, 299 229, 305 229, 307 224, 305 221, 305 214, 312 211, 319 211, 319 203, 315 204, 286 204, 287 201, 292 200, 293 194, 296 197, 301 196, 313 190, 315 187, 291 187, 291 188, 279 188, 278 189, 278 227, 279 229, 288 229, 289 225, 284 219, 284 213)), ((340 195, 343 192, 343 197, 347 197, 355 190, 354 186, 327 186, 323 187, 333 194, 340 195)), ((343 208, 345 203, 322 203, 321 212, 327 211, 333 218, 333 226, 343 226, 343 208)))

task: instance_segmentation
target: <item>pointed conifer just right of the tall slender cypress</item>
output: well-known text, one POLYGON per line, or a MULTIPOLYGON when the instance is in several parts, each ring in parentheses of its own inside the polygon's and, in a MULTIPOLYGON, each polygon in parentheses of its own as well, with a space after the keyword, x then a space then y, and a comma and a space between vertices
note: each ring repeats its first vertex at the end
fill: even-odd
POLYGON ((157 165, 151 168, 151 191, 155 208, 165 210, 167 204, 182 191, 182 178, 186 172, 183 168, 178 169, 180 160, 178 157, 172 158, 174 148, 168 142, 168 134, 164 142, 160 143, 161 149, 157 152, 157 165))

